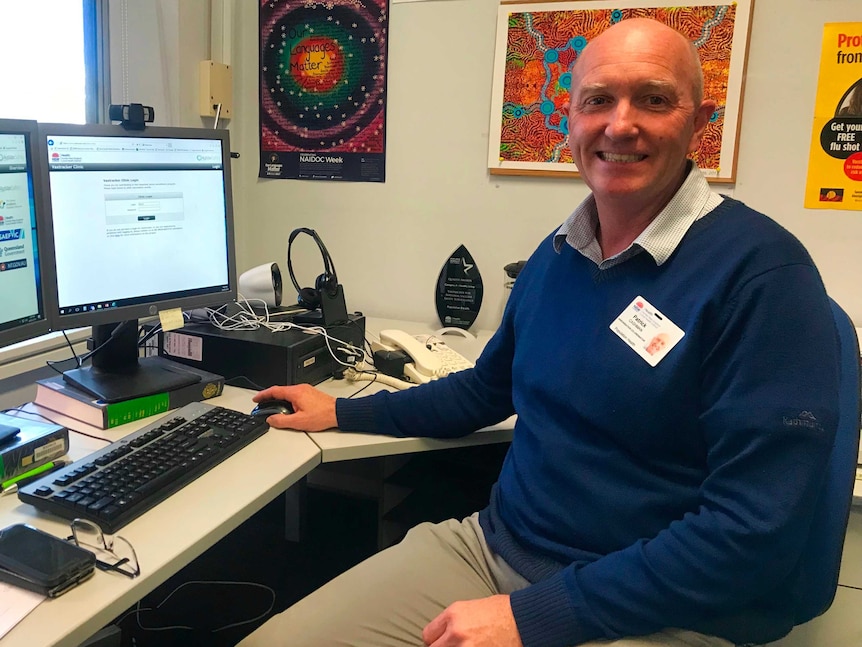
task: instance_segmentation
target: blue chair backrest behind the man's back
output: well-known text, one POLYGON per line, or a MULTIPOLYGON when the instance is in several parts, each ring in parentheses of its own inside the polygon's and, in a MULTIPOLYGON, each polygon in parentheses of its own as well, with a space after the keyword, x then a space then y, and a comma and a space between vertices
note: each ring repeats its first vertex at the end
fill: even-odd
POLYGON ((835 301, 831 303, 841 345, 838 428, 811 534, 794 578, 795 624, 819 616, 835 598, 859 457, 859 342, 853 322, 835 301))

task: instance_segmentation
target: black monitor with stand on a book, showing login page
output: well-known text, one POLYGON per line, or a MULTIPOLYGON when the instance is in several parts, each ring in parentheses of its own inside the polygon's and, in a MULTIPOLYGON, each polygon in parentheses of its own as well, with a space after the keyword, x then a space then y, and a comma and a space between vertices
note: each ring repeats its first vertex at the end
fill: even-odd
POLYGON ((107 402, 194 382, 139 358, 138 319, 236 299, 226 130, 40 124, 50 187, 58 328, 93 327, 67 382, 107 402), (122 323, 120 323, 122 322, 122 323))

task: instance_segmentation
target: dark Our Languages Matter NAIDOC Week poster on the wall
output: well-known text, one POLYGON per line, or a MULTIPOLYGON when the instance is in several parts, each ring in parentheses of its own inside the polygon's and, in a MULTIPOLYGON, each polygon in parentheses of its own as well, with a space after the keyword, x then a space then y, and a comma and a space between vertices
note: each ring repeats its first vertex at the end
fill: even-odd
POLYGON ((260 177, 386 179, 388 0, 260 4, 260 177))

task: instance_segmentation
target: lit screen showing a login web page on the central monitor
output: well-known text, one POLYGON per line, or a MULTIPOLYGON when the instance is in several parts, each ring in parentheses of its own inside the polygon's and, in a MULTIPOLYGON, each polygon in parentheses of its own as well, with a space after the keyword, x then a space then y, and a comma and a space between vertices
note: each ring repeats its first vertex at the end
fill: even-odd
POLYGON ((47 143, 60 314, 228 284, 220 141, 47 143))

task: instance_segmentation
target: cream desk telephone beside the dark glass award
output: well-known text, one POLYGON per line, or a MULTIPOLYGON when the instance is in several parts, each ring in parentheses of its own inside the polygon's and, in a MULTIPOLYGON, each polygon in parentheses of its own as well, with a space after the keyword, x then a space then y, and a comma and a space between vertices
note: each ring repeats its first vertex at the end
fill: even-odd
POLYGON ((472 368, 473 362, 434 335, 410 335, 403 330, 382 330, 371 350, 403 350, 413 362, 404 365, 404 377, 415 384, 430 382, 456 371, 472 368))

